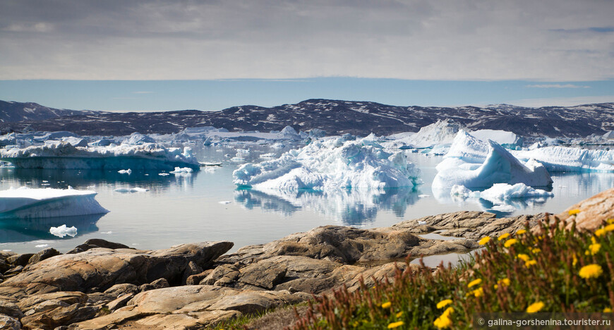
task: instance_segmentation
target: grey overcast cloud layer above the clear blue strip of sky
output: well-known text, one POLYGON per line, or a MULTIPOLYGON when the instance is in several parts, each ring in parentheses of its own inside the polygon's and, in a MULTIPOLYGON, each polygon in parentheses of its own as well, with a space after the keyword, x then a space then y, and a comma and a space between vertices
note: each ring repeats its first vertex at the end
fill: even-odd
POLYGON ((0 1, 0 79, 614 78, 614 1, 0 1))

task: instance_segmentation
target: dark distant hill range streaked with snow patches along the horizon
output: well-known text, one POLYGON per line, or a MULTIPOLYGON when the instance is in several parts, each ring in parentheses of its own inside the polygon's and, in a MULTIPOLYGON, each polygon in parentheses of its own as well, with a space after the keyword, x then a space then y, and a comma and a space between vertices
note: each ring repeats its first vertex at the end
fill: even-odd
MULTIPOLYGON (((0 114, 6 102, 0 104, 0 114)), ((9 104, 11 105, 11 104, 9 104)), ((13 104, 13 107, 16 105, 13 104)), ((38 106, 38 105, 37 105, 38 106)), ((23 106, 22 106, 23 107, 23 106)), ((7 108, 8 109, 8 108, 7 108)), ((31 109, 23 107, 25 109, 31 109)), ((36 108, 37 110, 39 108, 36 108)), ((48 108, 46 108, 48 109, 48 108)), ((43 111, 44 109, 41 109, 43 111)), ((56 111, 57 109, 49 109, 56 111)), ((67 110, 61 110, 67 111, 67 110)), ((37 113, 37 111, 34 111, 37 113)), ((614 103, 582 106, 546 106, 526 108, 498 104, 486 107, 390 106, 374 102, 308 99, 297 104, 234 106, 222 111, 164 112, 66 112, 46 118, 23 117, 18 123, 0 124, 0 130, 69 130, 80 135, 128 135, 140 133, 177 133, 183 128, 214 126, 231 131, 281 130, 293 126, 296 130, 320 128, 328 134, 352 133, 390 135, 416 132, 435 121, 450 118, 462 125, 478 129, 510 130, 518 135, 582 138, 602 135, 614 129, 614 103), (44 119, 44 120, 41 120, 44 119)))

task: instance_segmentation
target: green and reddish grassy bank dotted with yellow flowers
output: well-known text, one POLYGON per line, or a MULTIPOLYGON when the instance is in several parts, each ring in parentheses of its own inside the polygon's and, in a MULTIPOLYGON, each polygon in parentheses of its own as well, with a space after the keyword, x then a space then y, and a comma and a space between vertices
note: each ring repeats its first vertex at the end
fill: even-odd
POLYGON ((459 267, 397 269, 394 281, 321 295, 294 329, 465 329, 477 312, 611 312, 614 221, 595 233, 559 225, 483 238, 459 267))

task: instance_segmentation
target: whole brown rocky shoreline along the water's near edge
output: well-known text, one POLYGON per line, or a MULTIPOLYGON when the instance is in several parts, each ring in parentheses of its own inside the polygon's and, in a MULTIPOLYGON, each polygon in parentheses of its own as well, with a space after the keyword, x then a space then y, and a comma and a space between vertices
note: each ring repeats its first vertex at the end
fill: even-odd
MULTIPOLYGON (((579 228, 614 218, 614 189, 570 207, 580 208, 586 221, 579 228)), ((558 216, 571 221, 567 212, 558 216)), ((393 277, 397 266, 419 269, 402 262, 408 255, 469 252, 484 236, 543 219, 455 212, 385 228, 323 226, 231 254, 233 243, 224 241, 136 250, 100 239, 66 254, 0 252, 0 329, 202 329, 339 286, 356 290, 361 279, 370 285, 393 277)))

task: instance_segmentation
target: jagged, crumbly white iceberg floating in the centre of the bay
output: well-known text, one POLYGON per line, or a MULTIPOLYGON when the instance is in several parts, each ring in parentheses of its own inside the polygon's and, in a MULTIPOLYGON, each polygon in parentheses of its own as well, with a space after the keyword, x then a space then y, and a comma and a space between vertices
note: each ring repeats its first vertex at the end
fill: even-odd
POLYGON ((419 170, 402 152, 382 159, 379 147, 362 140, 316 140, 279 159, 243 164, 233 173, 240 188, 258 190, 379 190, 414 187, 419 170))

